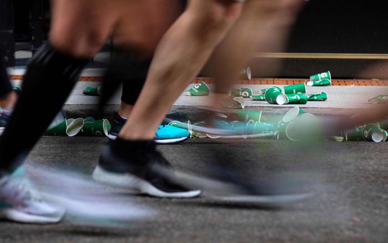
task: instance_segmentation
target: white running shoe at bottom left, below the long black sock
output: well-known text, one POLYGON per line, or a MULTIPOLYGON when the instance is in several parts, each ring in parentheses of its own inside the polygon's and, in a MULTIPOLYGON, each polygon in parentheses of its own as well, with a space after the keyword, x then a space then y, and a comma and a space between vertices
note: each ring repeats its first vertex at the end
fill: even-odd
POLYGON ((53 224, 61 221, 65 211, 44 202, 31 187, 23 167, 0 176, 0 219, 23 223, 53 224))

